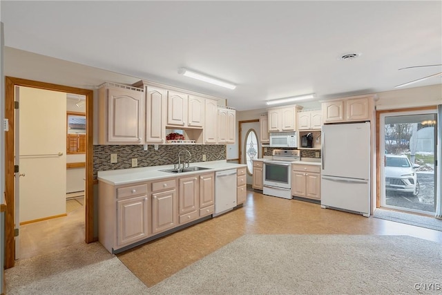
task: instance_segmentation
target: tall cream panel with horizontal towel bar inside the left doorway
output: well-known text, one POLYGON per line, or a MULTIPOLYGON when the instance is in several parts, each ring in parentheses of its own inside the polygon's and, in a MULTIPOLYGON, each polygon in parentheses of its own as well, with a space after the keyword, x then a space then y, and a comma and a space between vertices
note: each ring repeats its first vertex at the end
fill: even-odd
MULTIPOLYGON (((66 214, 66 93, 19 87, 19 222, 66 214)), ((18 113, 18 112, 17 112, 18 113)), ((17 253, 17 251, 16 251, 17 253)))

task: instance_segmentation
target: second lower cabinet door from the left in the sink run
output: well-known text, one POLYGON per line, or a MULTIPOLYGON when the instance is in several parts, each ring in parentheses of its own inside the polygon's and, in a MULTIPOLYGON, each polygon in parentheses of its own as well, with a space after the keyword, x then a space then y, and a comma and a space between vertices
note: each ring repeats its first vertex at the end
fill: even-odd
POLYGON ((152 234, 177 225, 177 197, 175 189, 152 194, 152 234))

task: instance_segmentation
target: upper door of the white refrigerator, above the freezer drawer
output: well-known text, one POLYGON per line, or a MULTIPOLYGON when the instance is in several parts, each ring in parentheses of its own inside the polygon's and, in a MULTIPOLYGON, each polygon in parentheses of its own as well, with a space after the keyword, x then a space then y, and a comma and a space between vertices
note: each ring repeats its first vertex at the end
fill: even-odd
POLYGON ((370 124, 324 125, 322 175, 369 179, 370 124))

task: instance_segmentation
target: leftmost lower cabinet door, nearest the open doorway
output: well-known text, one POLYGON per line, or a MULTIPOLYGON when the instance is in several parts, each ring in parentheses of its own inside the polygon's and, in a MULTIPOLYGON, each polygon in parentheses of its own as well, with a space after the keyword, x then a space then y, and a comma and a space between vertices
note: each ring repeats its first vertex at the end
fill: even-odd
POLYGON ((117 245, 147 238, 148 218, 148 196, 117 201, 117 245))

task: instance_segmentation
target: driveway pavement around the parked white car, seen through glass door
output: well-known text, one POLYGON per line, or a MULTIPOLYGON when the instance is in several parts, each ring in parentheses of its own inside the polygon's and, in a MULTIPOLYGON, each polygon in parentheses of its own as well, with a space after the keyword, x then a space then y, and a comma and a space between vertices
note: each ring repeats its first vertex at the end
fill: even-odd
POLYGON ((421 189, 417 196, 397 191, 387 191, 387 205, 434 212, 434 173, 417 173, 421 189))

